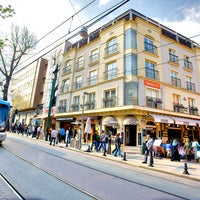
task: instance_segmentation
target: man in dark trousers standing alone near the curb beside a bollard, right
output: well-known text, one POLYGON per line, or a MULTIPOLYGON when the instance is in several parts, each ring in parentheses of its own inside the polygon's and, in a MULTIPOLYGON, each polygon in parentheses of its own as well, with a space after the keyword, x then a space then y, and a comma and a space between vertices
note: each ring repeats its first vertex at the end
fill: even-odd
POLYGON ((151 135, 147 135, 147 141, 146 141, 146 151, 145 151, 145 158, 144 158, 144 164, 147 163, 148 155, 150 154, 150 167, 154 167, 153 163, 153 139, 151 138, 151 135))

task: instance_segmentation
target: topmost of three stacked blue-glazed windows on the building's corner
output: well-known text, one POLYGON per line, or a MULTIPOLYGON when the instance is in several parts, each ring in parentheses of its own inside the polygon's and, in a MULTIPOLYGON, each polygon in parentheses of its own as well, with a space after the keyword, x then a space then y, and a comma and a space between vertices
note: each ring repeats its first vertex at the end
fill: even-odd
POLYGON ((137 48, 137 32, 134 29, 125 31, 125 49, 137 48))

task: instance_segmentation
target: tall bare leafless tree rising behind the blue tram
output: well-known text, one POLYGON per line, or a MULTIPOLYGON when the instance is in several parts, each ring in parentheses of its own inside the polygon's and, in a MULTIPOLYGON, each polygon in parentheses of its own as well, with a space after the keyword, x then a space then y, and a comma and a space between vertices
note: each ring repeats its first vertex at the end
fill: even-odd
POLYGON ((4 45, 0 48, 0 76, 4 79, 3 99, 8 99, 8 88, 14 71, 25 55, 30 53, 37 44, 34 34, 27 27, 11 26, 10 38, 4 39, 4 45))

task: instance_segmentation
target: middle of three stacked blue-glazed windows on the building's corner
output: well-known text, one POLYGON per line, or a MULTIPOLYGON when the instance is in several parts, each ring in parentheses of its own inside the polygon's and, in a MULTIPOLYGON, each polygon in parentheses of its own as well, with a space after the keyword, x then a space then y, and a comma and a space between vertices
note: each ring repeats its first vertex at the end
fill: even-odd
POLYGON ((130 53, 125 56, 125 75, 137 75, 137 55, 130 53))

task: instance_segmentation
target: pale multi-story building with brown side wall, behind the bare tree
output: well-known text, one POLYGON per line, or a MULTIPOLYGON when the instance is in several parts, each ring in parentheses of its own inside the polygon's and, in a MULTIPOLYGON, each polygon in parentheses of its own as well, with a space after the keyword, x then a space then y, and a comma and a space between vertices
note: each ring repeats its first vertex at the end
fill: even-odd
POLYGON ((41 124, 48 61, 38 59, 18 70, 12 78, 12 123, 41 124), (17 110, 17 112, 16 112, 17 110))

